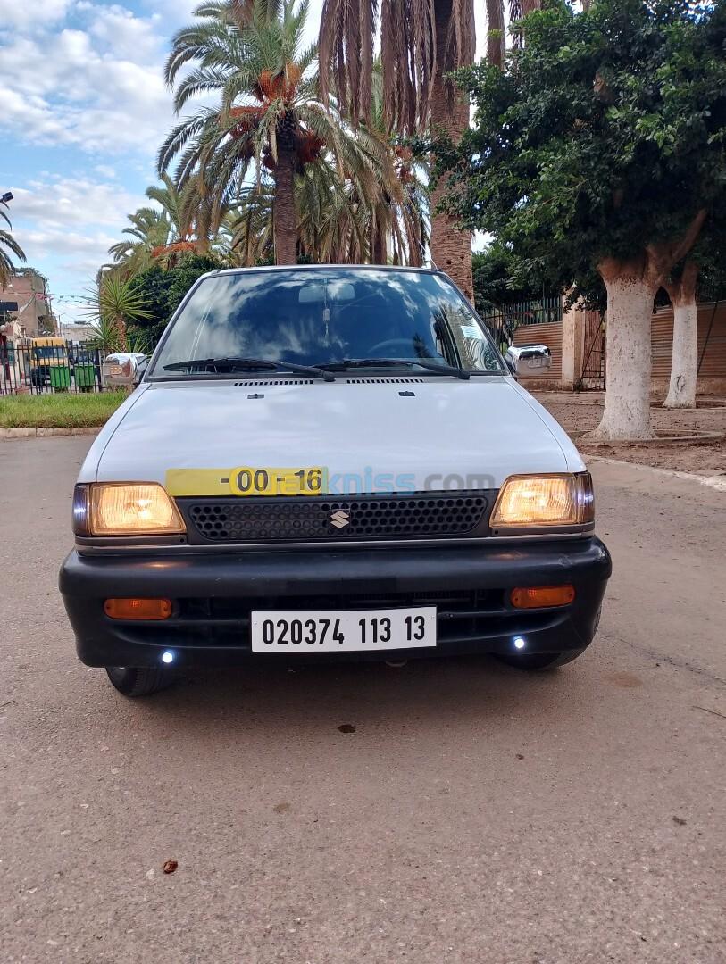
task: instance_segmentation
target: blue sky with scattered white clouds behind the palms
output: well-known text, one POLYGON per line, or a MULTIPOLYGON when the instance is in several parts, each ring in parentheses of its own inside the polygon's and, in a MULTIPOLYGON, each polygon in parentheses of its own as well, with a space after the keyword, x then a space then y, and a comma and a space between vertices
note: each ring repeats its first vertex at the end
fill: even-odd
MULTIPOLYGON (((84 319, 79 299, 148 203, 175 123, 162 68, 198 3, 0 0, 0 194, 13 192, 13 235, 63 323, 84 319)), ((310 0, 310 40, 321 7, 310 0)))

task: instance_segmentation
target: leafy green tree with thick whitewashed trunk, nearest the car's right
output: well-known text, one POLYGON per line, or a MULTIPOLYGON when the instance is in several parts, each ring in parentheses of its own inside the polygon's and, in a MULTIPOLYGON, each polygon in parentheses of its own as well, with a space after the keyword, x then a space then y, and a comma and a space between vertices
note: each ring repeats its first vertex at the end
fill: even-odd
POLYGON ((595 435, 647 439, 654 298, 726 185, 726 5, 561 0, 523 21, 505 67, 462 77, 476 105, 438 146, 451 210, 565 287, 607 291, 607 393, 595 435))

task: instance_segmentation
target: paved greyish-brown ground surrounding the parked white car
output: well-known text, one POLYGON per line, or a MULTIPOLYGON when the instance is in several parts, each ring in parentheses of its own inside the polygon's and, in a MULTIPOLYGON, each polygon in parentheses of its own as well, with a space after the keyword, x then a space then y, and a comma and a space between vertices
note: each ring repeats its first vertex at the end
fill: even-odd
POLYGON ((726 960, 726 495, 593 467, 615 575, 549 677, 215 673, 128 702, 55 588, 88 443, 0 442, 3 961, 726 960))

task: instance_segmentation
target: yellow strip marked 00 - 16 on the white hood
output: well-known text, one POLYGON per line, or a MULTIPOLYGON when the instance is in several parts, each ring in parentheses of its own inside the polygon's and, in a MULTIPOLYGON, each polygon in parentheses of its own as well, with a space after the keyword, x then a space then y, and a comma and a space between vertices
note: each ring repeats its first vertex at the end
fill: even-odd
POLYGON ((169 469, 166 488, 169 495, 325 495, 328 469, 169 469))

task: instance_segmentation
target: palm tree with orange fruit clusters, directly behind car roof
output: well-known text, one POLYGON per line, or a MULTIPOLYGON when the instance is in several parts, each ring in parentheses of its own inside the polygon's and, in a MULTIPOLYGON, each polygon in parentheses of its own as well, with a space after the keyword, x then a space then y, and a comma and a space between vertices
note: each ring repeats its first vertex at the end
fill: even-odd
POLYGON ((269 174, 278 264, 297 261, 295 181, 309 165, 330 158, 365 197, 375 191, 374 164, 385 160, 375 138, 354 137, 321 102, 316 48, 302 46, 307 13, 308 0, 206 3, 195 12, 199 22, 176 35, 166 65, 177 113, 197 94, 219 94, 220 102, 177 124, 159 151, 159 170, 178 155, 180 189, 195 182, 201 196, 227 209, 246 190, 251 168, 257 187, 269 174))

